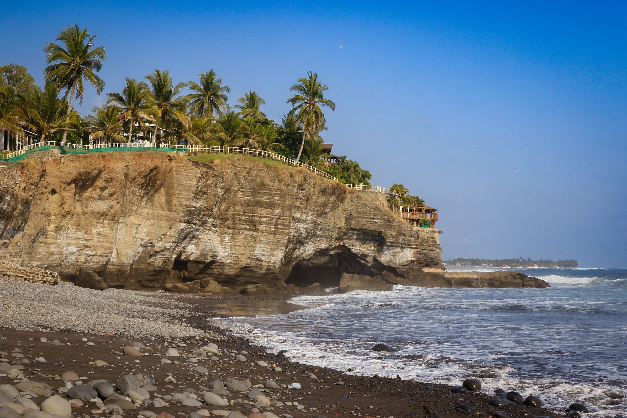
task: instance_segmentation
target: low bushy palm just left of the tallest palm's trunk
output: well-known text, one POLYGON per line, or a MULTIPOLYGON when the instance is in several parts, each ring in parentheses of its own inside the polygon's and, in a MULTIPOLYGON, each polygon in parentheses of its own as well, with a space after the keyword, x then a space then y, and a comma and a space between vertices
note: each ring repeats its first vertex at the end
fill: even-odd
POLYGON ((45 141, 46 136, 60 130, 74 131, 71 127, 80 117, 74 110, 66 112, 65 100, 58 99, 56 94, 56 85, 46 83, 43 92, 37 92, 33 96, 31 105, 26 109, 28 118, 21 122, 40 137, 40 142, 45 141))

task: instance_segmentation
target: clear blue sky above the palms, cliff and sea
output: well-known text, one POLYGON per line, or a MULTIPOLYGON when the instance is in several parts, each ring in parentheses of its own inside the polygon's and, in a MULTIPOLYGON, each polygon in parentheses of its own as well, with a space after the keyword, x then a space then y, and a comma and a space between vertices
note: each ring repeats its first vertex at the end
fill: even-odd
POLYGON ((77 23, 107 48, 105 93, 213 69, 275 121, 317 72, 325 142, 438 208, 443 259, 627 267, 626 2, 264 3, 12 2, 0 65, 43 83, 43 46, 77 23))

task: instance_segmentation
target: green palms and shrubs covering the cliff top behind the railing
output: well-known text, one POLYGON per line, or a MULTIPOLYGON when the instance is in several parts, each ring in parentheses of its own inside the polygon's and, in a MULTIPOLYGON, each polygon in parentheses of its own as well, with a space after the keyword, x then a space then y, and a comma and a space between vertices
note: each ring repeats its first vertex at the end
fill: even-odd
MULTIPOLYGON (((144 80, 126 78, 121 92, 107 93, 107 102, 80 115, 74 100, 82 103, 85 83, 100 94, 105 82, 98 77, 107 51, 96 36, 78 25, 61 30, 56 43, 45 45, 43 91, 26 68, 0 67, 0 129, 28 131, 34 142, 60 141, 83 144, 157 142, 250 147, 281 154, 315 166, 344 183, 369 185, 371 173, 346 156, 329 162, 322 152, 327 130, 323 109, 335 110, 325 97, 329 86, 308 72, 290 87, 292 106, 278 124, 261 109, 265 100, 255 90, 239 97, 231 109, 231 88, 213 70, 198 80, 174 82, 168 70, 155 68, 144 80), (187 90, 184 91, 184 90, 187 90)), ((265 163, 267 160, 261 159, 265 163)))

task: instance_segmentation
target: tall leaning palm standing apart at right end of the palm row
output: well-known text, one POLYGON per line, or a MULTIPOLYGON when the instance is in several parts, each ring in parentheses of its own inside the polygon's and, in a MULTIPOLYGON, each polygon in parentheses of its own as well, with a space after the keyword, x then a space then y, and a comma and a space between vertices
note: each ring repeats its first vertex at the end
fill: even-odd
POLYGON ((325 118, 320 109, 320 105, 335 110, 335 103, 324 99, 324 92, 329 90, 327 85, 322 85, 318 81, 318 73, 307 73, 307 78, 299 78, 298 82, 290 87, 290 91, 296 92, 287 102, 293 106, 290 113, 295 114, 296 120, 303 128, 303 140, 300 143, 300 151, 296 161, 300 160, 303 152, 305 138, 315 136, 320 131, 320 126, 324 124, 325 118))

